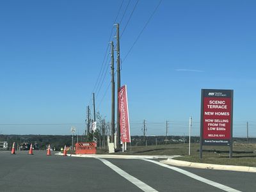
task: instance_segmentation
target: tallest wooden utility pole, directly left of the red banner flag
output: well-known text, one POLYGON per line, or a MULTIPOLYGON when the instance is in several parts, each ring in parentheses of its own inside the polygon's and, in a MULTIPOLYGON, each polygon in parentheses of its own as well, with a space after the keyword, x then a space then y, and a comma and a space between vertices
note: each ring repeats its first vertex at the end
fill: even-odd
POLYGON ((120 89, 120 43, 119 43, 119 24, 115 24, 116 26, 116 72, 117 72, 117 117, 116 117, 116 134, 117 134, 117 148, 120 148, 120 112, 119 112, 119 100, 118 100, 118 91, 120 89))

